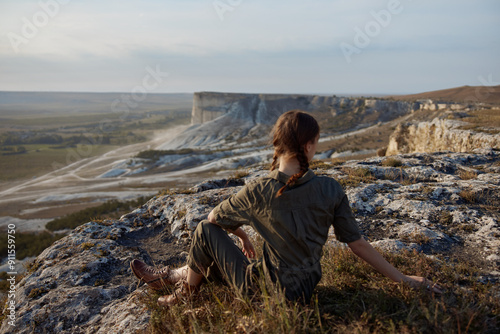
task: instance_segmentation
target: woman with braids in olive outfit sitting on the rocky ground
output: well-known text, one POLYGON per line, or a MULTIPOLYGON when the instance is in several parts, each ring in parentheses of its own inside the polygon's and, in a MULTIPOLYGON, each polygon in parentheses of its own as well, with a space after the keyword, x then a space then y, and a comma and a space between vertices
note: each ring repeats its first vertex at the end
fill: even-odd
POLYGON ((288 300, 307 303, 321 279, 320 259, 330 226, 337 240, 383 275, 440 293, 425 278, 399 272, 361 237, 341 185, 309 169, 318 139, 319 126, 311 115, 297 110, 283 114, 273 129, 271 173, 244 186, 199 223, 185 267, 155 269, 131 262, 133 273, 152 288, 179 284, 172 295, 158 299, 159 305, 197 293, 204 278, 232 283, 248 293, 259 272, 281 287, 288 300), (242 225, 252 226, 264 241, 263 257, 257 261, 249 260, 255 249, 242 225), (225 230, 239 237, 242 250, 225 230))

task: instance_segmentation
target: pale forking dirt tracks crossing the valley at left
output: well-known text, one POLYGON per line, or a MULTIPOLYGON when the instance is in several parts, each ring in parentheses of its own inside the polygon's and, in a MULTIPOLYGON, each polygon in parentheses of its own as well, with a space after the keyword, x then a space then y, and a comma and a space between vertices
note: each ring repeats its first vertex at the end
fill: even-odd
MULTIPOLYGON (((129 199, 155 193, 171 185, 181 186, 192 182, 179 180, 180 175, 145 175, 134 177, 100 177, 121 161, 126 161, 138 152, 154 149, 175 138, 187 126, 179 126, 158 134, 148 142, 128 145, 109 151, 101 156, 86 158, 36 179, 18 182, 0 191, 0 217, 24 218, 23 213, 36 216, 37 209, 47 211, 53 207, 53 217, 67 213, 64 207, 84 203, 95 205, 96 201, 111 198, 129 199)), ((46 218, 46 217, 45 217, 46 218)))

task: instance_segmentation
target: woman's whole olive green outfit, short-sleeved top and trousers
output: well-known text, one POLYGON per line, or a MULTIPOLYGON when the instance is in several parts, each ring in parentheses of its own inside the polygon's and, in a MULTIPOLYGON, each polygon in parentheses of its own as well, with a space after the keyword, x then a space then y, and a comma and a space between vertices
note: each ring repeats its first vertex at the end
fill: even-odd
POLYGON ((214 209, 219 226, 202 221, 194 233, 189 267, 245 292, 260 266, 287 299, 308 302, 321 279, 320 259, 330 226, 341 242, 356 241, 361 234, 347 196, 333 178, 309 170, 277 197, 287 180, 287 175, 272 171, 220 203, 214 209), (262 236, 262 259, 250 262, 222 229, 242 225, 262 236))

